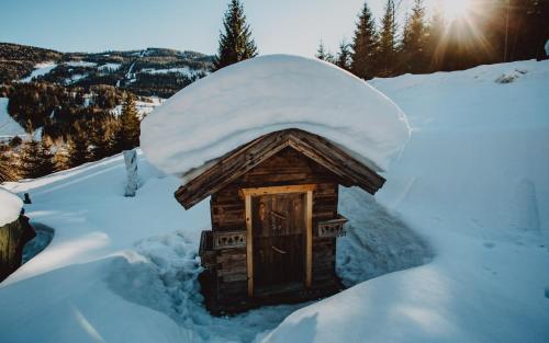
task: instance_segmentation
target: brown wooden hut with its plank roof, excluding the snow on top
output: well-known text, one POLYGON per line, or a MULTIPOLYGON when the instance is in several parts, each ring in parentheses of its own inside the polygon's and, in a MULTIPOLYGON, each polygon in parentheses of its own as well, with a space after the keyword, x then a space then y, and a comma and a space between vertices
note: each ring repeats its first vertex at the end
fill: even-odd
POLYGON ((200 243, 209 309, 234 312, 338 291, 336 238, 347 221, 337 210, 338 186, 374 194, 384 181, 300 129, 261 136, 193 175, 176 198, 188 209, 211 196, 212 230, 200 243))

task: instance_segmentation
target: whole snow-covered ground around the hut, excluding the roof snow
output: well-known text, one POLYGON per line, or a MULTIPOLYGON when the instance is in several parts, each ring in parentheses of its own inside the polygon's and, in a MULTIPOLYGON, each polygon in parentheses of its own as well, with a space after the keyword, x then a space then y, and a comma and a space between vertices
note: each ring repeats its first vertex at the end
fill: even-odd
POLYGON ((197 275, 208 201, 121 156, 9 183, 52 243, 0 284, 0 342, 547 342, 549 62, 376 79, 412 138, 376 199, 341 190, 347 290, 212 318, 197 275), (391 273, 392 272, 392 273, 391 273), (372 278, 373 277, 373 278, 372 278))

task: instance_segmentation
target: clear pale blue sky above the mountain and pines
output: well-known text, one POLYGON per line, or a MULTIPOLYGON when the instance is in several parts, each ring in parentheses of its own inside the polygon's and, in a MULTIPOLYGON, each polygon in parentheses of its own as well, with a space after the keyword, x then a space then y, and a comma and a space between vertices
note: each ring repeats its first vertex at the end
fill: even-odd
MULTIPOLYGON (((0 42, 61 52, 168 47, 214 54, 227 1, 2 0, 0 42)), ((405 12, 410 2, 403 0, 400 12, 405 12)), ((362 3, 244 0, 260 54, 304 56, 314 55, 321 38, 334 50, 341 39, 349 41, 362 3)), ((368 3, 381 15, 384 0, 368 3)))

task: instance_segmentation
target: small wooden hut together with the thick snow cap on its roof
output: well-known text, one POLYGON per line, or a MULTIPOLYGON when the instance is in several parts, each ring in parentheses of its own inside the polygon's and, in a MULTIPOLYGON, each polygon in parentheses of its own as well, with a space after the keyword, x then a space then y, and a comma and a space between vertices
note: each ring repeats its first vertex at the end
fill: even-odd
POLYGON ((171 96, 142 122, 141 147, 180 178, 184 208, 211 198, 202 290, 212 311, 234 312, 338 291, 339 186, 374 194, 408 138, 402 111, 363 80, 268 55, 171 96))

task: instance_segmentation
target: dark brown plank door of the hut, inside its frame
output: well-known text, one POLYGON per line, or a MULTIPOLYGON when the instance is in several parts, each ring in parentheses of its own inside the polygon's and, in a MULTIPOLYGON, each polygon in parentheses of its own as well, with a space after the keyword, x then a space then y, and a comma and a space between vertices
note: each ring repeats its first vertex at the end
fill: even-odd
POLYGON ((305 194, 251 198, 254 286, 303 285, 305 279, 305 194))

